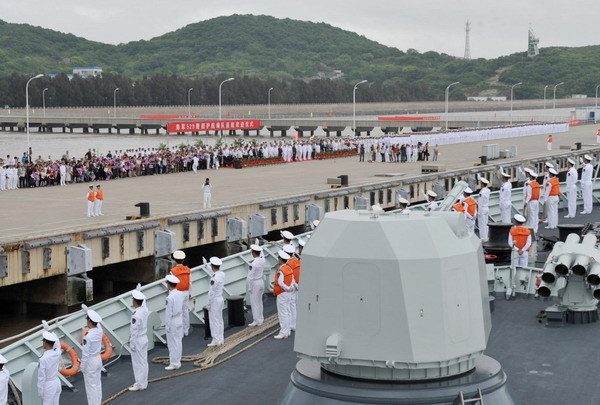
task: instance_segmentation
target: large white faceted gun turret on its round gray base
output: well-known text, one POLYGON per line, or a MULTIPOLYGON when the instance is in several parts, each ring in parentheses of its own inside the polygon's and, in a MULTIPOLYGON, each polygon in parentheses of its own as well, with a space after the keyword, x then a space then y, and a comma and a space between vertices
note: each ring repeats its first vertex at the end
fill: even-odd
POLYGON ((328 213, 302 253, 282 404, 512 404, 483 352, 491 328, 479 239, 454 212, 328 213), (408 402, 403 402, 408 401, 408 402))

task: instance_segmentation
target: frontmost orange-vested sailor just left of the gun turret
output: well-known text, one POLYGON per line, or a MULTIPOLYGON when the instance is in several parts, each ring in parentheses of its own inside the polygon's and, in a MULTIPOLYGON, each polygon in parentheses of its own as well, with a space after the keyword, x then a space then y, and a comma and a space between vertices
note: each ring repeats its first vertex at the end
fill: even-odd
POLYGON ((283 250, 278 252, 279 269, 275 273, 273 294, 277 297, 277 314, 280 330, 275 339, 287 339, 291 332, 290 300, 294 291, 294 270, 287 264, 290 255, 283 250))

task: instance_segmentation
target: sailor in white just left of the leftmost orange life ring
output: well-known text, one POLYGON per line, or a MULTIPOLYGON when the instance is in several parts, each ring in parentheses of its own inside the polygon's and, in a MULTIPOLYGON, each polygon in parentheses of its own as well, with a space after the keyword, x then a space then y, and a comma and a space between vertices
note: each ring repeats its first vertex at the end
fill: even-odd
POLYGON ((58 370, 60 369, 60 342, 56 334, 44 331, 42 335, 44 353, 39 360, 38 396, 42 405, 58 405, 62 391, 58 370))

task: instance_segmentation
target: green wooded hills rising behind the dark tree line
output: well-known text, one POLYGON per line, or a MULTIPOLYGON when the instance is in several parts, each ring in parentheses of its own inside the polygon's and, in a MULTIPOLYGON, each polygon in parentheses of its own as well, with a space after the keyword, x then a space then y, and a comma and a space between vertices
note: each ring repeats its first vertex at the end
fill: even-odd
POLYGON ((600 82, 600 46, 544 48, 530 59, 516 53, 464 60, 437 52, 400 51, 324 23, 268 16, 232 15, 190 24, 174 32, 121 45, 0 20, 0 74, 70 73, 73 66, 141 79, 176 75, 187 79, 224 76, 291 81, 367 79, 400 100, 441 99, 448 83, 453 98, 482 90, 508 95, 522 81, 518 98, 541 97, 547 84, 565 82, 560 94, 593 96, 600 82), (387 89, 387 90, 386 90, 387 89))

